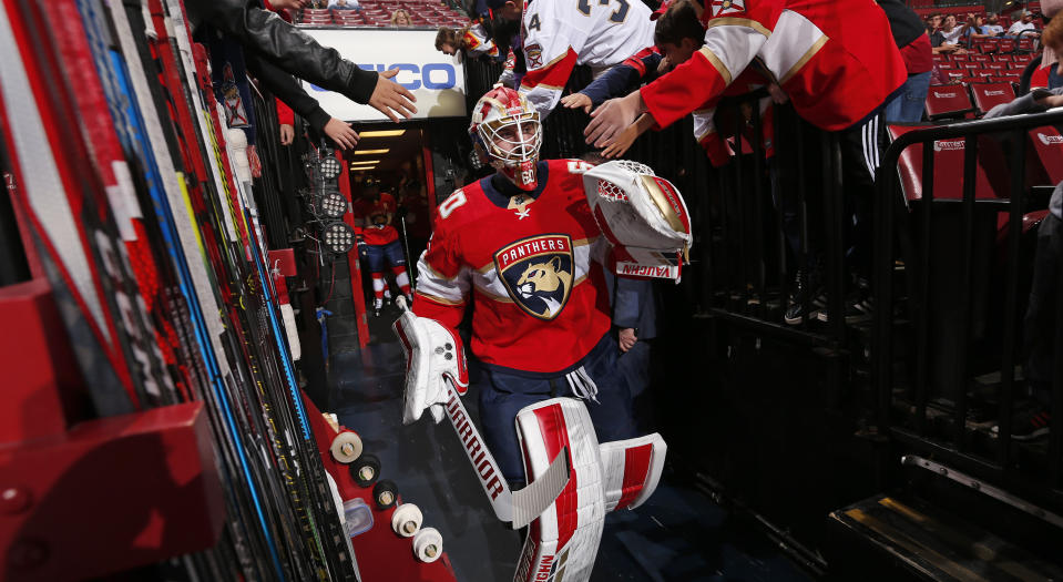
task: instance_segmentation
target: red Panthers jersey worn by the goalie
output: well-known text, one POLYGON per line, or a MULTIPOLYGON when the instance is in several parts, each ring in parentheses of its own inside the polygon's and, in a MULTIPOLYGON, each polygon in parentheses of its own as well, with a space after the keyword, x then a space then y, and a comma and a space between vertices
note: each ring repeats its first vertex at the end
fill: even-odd
POLYGON ((574 368, 610 328, 607 243, 583 193, 590 167, 540 162, 539 187, 514 198, 490 177, 451 194, 417 265, 413 313, 457 327, 472 293, 480 360, 538 374, 574 368))

